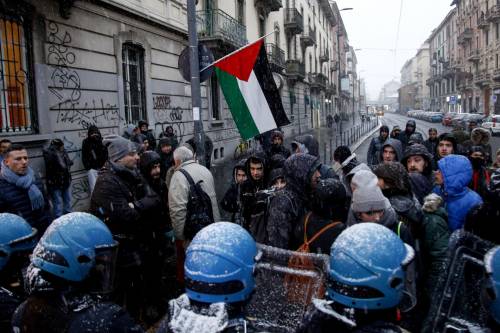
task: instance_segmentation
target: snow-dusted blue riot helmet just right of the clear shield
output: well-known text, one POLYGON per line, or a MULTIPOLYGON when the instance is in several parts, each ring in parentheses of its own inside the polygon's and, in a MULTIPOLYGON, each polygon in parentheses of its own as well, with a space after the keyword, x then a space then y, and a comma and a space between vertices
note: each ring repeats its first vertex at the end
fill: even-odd
POLYGON ((328 297, 349 308, 396 307, 413 249, 390 229, 364 222, 344 230, 332 244, 328 297))

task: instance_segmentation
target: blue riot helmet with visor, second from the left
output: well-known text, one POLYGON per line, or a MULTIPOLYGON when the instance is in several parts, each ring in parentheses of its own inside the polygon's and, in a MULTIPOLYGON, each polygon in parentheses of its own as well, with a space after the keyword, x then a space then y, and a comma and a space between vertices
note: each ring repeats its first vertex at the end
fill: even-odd
POLYGON ((112 291, 118 243, 108 227, 88 213, 54 220, 33 251, 32 264, 69 282, 88 282, 90 291, 112 291))

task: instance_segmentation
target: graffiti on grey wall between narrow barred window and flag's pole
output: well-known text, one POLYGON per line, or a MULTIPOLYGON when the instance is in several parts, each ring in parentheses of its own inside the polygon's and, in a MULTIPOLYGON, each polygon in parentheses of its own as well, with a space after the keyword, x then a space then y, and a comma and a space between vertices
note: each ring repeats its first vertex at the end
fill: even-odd
POLYGON ((172 100, 168 95, 157 95, 153 97, 153 112, 155 115, 155 132, 162 133, 168 126, 174 129, 179 142, 186 135, 186 121, 184 110, 180 106, 172 106, 172 100))

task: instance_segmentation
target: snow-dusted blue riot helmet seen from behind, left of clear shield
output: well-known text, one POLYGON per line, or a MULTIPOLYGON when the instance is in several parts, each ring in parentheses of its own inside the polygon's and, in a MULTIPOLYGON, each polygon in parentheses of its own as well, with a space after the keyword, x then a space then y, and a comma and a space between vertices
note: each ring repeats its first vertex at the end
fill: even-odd
POLYGON ((187 296, 205 303, 247 300, 255 287, 257 245, 241 226, 213 223, 200 230, 186 251, 187 296))

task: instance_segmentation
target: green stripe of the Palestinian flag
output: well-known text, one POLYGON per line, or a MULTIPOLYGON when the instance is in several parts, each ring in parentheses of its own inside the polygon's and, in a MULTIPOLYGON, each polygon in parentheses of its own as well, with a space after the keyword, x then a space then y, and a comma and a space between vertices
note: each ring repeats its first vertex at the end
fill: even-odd
POLYGON ((229 109, 231 110, 231 114, 233 115, 236 127, 238 127, 240 131, 241 137, 244 140, 248 140, 258 135, 259 130, 241 94, 236 77, 217 67, 215 68, 215 73, 217 73, 222 92, 224 93, 227 105, 229 105, 229 109))

